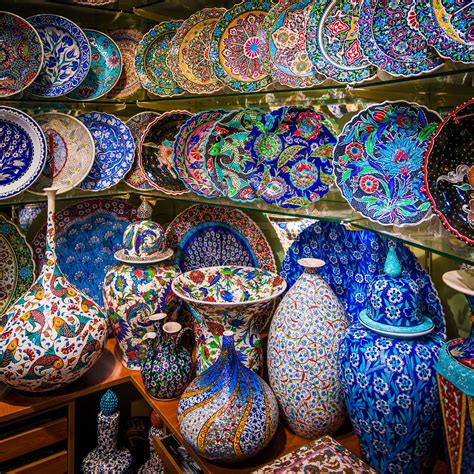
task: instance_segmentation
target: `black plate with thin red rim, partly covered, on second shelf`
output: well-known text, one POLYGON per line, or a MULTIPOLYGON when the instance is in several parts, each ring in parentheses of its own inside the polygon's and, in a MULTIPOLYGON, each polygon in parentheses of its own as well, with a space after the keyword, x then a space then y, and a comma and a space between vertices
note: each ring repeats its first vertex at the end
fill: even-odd
POLYGON ((191 117, 186 110, 166 112, 151 122, 140 141, 140 168, 158 191, 178 195, 189 191, 178 178, 173 163, 173 143, 179 129, 191 117))

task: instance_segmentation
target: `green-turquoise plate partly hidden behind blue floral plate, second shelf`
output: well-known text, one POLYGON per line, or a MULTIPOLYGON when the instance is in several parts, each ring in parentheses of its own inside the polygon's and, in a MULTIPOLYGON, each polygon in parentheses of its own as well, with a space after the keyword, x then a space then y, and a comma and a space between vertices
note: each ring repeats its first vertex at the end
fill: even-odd
POLYGON ((207 137, 204 156, 208 177, 217 191, 233 201, 258 199, 247 179, 253 163, 244 145, 262 113, 256 108, 229 112, 214 125, 207 137))

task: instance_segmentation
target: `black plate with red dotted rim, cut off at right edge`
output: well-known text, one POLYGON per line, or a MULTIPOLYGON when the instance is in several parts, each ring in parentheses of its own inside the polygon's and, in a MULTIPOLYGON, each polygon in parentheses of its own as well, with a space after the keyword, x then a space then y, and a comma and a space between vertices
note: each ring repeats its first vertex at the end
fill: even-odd
POLYGON ((431 136, 425 187, 433 210, 456 237, 474 245, 474 99, 451 112, 431 136))

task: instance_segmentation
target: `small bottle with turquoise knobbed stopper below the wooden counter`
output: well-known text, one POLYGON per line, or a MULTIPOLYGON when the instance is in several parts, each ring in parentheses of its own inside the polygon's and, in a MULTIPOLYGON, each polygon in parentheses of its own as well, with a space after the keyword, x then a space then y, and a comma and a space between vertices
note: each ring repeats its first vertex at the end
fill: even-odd
POLYGON ((100 399, 100 412, 97 416, 97 448, 82 461, 84 474, 132 472, 130 451, 118 447, 119 421, 117 395, 112 390, 107 390, 100 399))

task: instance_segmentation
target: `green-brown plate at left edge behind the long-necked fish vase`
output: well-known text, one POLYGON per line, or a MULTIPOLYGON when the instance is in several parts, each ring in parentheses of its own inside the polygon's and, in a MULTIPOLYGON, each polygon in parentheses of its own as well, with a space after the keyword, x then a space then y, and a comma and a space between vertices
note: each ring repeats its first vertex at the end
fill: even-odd
POLYGON ((0 332, 2 314, 33 284, 33 251, 20 229, 0 214, 0 332))

